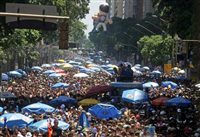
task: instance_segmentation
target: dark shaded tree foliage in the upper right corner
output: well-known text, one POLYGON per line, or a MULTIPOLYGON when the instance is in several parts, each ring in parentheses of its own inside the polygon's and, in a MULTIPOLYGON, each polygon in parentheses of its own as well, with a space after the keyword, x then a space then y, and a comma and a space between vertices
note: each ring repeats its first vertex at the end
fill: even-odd
POLYGON ((183 39, 191 37, 192 0, 153 0, 153 3, 170 34, 177 33, 183 39))

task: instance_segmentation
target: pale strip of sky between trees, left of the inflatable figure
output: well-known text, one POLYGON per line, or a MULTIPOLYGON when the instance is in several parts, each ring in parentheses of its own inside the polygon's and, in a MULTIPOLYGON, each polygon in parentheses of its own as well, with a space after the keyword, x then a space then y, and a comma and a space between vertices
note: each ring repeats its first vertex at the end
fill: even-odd
POLYGON ((105 2, 105 0, 90 0, 90 11, 89 14, 86 15, 85 19, 82 19, 82 22, 87 25, 87 30, 85 30, 85 34, 88 36, 88 33, 93 29, 93 20, 92 16, 99 11, 99 5, 105 2))

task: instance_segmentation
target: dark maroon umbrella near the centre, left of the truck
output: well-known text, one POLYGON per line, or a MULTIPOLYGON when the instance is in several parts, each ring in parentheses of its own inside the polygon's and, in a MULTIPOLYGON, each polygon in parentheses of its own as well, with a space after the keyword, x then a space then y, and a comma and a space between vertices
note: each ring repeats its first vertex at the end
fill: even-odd
POLYGON ((112 86, 108 85, 97 85, 92 88, 90 88, 85 96, 92 96, 97 95, 101 93, 111 92, 114 88, 112 86))

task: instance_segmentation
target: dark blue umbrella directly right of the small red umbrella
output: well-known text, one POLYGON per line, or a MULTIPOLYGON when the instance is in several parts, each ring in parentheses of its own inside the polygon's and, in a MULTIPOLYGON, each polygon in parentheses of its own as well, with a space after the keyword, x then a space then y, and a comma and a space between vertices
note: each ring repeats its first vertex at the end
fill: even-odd
POLYGON ((189 105, 191 105, 191 101, 188 99, 185 99, 183 97, 175 97, 172 99, 169 99, 166 102, 167 106, 182 106, 182 107, 187 107, 189 105))

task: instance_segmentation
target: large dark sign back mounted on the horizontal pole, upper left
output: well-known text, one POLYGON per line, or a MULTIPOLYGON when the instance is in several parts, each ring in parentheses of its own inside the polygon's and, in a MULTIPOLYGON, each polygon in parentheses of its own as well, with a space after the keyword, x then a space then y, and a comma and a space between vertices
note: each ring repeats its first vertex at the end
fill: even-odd
MULTIPOLYGON (((6 3, 6 12, 38 15, 54 15, 58 12, 55 6, 6 3)), ((6 16, 6 24, 10 28, 56 30, 56 19, 11 17, 6 16)))

